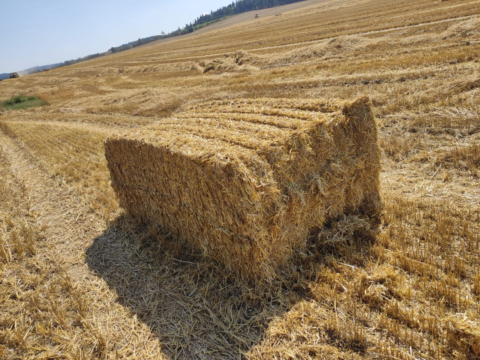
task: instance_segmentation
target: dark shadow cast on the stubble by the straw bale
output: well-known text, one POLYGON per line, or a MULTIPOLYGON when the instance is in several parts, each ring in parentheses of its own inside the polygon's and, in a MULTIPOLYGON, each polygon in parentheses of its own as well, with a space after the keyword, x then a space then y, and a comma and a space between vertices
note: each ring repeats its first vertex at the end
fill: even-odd
POLYGON ((94 239, 86 262, 115 291, 117 301, 158 337, 165 355, 239 359, 249 357, 273 318, 310 298, 316 274, 328 266, 325 260, 347 261, 348 254, 361 266, 363 260, 353 257, 368 254, 357 242, 339 246, 343 254, 328 244, 319 252, 312 242, 270 288, 258 289, 196 254, 186 242, 120 216, 94 239))

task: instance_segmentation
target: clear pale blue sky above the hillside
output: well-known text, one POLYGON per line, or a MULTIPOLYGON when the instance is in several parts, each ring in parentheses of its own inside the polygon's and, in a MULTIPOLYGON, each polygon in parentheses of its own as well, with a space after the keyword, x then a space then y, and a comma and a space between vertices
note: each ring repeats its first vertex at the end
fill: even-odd
POLYGON ((107 51, 183 27, 231 0, 0 1, 0 73, 107 51))

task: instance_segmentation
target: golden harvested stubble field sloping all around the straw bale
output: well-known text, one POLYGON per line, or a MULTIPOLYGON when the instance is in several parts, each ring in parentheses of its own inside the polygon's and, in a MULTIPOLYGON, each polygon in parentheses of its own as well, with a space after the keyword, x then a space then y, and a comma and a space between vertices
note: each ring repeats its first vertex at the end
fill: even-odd
POLYGON ((0 110, 0 358, 480 358, 480 1, 276 9, 0 83, 49 104, 0 110), (240 98, 364 95, 379 232, 334 219, 268 291, 126 216, 110 186, 107 137, 240 98))

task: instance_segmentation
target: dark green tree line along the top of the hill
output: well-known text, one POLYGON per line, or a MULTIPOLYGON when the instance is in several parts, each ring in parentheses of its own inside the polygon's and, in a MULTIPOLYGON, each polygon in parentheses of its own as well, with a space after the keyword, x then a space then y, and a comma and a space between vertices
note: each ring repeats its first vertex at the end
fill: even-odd
POLYGON ((205 14, 200 15, 195 20, 191 21, 190 24, 185 24, 185 26, 183 26, 183 27, 179 26, 177 28, 177 30, 169 32, 168 34, 166 34, 165 32, 162 31, 161 35, 139 38, 138 40, 131 41, 129 43, 122 44, 122 45, 117 46, 117 47, 112 46, 108 50, 111 51, 112 53, 123 51, 123 50, 128 50, 128 49, 140 46, 140 45, 148 44, 152 41, 156 41, 156 40, 159 40, 159 39, 164 39, 164 38, 167 38, 167 37, 179 36, 179 35, 192 33, 197 28, 202 27, 202 24, 219 21, 220 19, 222 19, 226 16, 240 14, 241 12, 247 12, 247 11, 252 11, 252 10, 260 10, 260 9, 271 8, 271 7, 278 6, 278 5, 287 5, 287 4, 291 4, 291 3, 294 3, 294 2, 300 2, 300 1, 304 1, 304 0, 237 0, 237 1, 232 1, 231 4, 228 4, 227 6, 222 6, 221 8, 217 9, 216 11, 212 10, 212 11, 210 11, 210 13, 205 13, 205 14))

